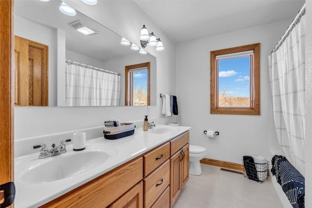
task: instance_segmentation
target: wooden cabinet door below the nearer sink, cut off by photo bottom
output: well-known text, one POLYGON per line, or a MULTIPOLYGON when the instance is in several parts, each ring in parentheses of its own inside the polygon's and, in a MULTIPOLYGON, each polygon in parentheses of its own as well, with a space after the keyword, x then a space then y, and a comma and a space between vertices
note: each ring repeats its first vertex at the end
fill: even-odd
POLYGON ((128 190, 109 208, 143 208, 143 182, 128 190))

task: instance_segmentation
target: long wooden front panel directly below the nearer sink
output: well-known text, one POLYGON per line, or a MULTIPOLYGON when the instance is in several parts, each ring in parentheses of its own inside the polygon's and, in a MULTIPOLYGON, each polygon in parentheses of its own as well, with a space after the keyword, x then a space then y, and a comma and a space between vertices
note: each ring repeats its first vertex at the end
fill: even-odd
POLYGON ((136 185, 143 176, 139 157, 74 189, 41 208, 105 208, 136 185))

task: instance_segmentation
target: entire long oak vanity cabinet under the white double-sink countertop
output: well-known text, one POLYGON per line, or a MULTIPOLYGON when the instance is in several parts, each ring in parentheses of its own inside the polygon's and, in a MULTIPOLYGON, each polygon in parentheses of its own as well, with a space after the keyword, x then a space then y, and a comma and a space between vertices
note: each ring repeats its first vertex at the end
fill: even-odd
POLYGON ((189 132, 41 208, 171 208, 189 179, 189 132))

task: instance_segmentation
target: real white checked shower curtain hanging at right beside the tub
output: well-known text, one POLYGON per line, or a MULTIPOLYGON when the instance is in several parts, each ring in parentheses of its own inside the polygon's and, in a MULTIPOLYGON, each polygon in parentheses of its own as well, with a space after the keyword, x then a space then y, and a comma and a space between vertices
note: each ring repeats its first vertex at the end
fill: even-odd
POLYGON ((305 16, 269 56, 269 71, 279 145, 305 175, 305 16))

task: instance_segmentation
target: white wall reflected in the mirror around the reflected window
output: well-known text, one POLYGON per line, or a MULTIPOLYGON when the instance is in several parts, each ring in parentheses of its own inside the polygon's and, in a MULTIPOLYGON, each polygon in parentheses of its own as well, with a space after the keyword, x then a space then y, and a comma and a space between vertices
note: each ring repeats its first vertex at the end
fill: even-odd
POLYGON ((156 57, 151 54, 139 54, 133 53, 130 55, 107 59, 103 62, 104 69, 118 72, 121 75, 121 93, 120 93, 120 105, 125 105, 125 66, 135 65, 139 63, 150 62, 150 95, 151 105, 156 105, 156 57))

